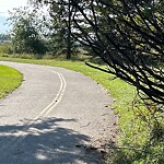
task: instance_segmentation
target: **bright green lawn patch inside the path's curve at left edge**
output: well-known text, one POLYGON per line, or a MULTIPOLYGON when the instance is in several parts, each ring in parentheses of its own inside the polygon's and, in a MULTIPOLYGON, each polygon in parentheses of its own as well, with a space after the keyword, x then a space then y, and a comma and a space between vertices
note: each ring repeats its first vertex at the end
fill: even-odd
POLYGON ((23 75, 15 69, 0 65, 0 98, 20 86, 23 75))

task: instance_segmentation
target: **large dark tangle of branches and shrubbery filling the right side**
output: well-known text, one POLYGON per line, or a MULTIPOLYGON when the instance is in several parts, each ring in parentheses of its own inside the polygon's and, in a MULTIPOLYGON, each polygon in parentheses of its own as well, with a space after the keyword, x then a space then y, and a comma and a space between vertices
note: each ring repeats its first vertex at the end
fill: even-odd
MULTIPOLYGON (((75 11, 72 22, 77 33, 72 34, 73 37, 92 48, 94 54, 107 65, 107 69, 86 65, 113 73, 136 86, 142 102, 141 99, 134 102, 134 114, 145 122, 147 128, 149 127, 144 149, 151 150, 153 145, 162 150, 164 140, 163 1, 71 0, 71 4, 75 11)), ((157 162, 162 162, 162 155, 157 162)))

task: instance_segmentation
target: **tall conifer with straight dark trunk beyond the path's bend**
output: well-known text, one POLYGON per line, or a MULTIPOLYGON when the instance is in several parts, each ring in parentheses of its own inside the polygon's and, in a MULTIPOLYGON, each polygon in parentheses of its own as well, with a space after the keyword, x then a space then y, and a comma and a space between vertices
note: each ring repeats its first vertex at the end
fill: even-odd
POLYGON ((49 23, 49 40, 50 49, 55 54, 62 54, 66 51, 66 58, 70 59, 71 54, 77 51, 77 43, 71 36, 72 25, 71 17, 73 8, 70 0, 31 0, 37 9, 46 4, 49 9, 50 23, 49 23))

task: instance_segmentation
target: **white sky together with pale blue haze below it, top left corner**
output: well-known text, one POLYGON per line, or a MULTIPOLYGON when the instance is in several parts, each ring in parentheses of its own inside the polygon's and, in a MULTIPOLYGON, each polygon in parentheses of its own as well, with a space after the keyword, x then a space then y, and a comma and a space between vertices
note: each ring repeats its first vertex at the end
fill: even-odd
POLYGON ((7 33, 10 30, 5 20, 9 17, 8 11, 12 11, 13 8, 25 7, 27 0, 0 0, 0 33, 7 33))

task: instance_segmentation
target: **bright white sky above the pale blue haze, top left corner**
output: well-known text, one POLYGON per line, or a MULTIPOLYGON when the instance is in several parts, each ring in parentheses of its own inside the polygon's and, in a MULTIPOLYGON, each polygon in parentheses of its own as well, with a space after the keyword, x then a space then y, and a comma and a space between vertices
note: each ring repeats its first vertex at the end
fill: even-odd
POLYGON ((9 16, 8 11, 13 8, 20 8, 27 4, 27 0, 0 0, 0 15, 9 16))

